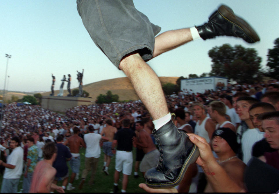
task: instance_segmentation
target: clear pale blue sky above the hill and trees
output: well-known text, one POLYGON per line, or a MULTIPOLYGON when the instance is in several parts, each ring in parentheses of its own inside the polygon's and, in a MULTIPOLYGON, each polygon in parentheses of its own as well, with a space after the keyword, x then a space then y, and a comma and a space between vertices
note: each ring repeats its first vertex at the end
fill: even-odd
MULTIPOLYGON (((255 48, 266 68, 268 49, 279 37, 279 1, 254 0, 134 0, 135 8, 149 20, 167 30, 199 26, 219 5, 225 4, 245 18, 261 41, 249 44, 240 38, 217 37, 189 42, 163 53, 148 64, 158 76, 201 75, 211 71, 208 51, 229 43, 255 48)), ((83 84, 125 77, 99 50, 83 26, 75 0, 0 1, 0 89, 13 91, 50 91, 52 77, 58 90, 63 75, 71 74, 71 88, 78 87, 76 71, 84 69, 83 84)), ((112 13, 113 14, 113 13, 112 13)), ((66 89, 66 85, 64 89, 66 89)))

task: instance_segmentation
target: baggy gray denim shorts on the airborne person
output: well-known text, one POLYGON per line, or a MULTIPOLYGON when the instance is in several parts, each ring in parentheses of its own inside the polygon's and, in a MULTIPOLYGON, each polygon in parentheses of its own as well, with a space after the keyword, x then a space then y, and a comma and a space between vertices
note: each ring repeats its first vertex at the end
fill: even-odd
POLYGON ((161 28, 139 12, 132 0, 77 0, 77 10, 94 43, 118 68, 126 55, 152 58, 161 28))

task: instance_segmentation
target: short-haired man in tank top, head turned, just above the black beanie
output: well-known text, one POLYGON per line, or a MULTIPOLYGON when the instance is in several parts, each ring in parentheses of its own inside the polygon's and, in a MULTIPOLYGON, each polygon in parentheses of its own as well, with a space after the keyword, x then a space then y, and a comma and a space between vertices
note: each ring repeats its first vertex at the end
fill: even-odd
POLYGON ((235 126, 226 119, 226 105, 223 102, 217 100, 210 102, 208 106, 208 114, 218 123, 215 129, 228 127, 233 132, 236 132, 235 126))

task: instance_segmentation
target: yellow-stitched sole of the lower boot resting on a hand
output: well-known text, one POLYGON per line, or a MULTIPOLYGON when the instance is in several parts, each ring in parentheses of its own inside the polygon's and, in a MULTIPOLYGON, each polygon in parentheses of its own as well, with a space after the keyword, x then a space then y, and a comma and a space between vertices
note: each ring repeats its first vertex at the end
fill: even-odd
POLYGON ((193 164, 194 162, 196 162, 199 155, 200 155, 200 153, 198 151, 198 147, 194 144, 194 147, 188 157, 188 160, 185 161, 185 163, 182 167, 182 170, 180 171, 180 174, 178 175, 178 178, 175 181, 169 182, 169 183, 162 183, 162 184, 149 184, 146 182, 146 185, 149 186, 150 188, 171 188, 171 187, 179 185, 180 182, 183 180, 188 167, 190 166, 190 164, 193 164))

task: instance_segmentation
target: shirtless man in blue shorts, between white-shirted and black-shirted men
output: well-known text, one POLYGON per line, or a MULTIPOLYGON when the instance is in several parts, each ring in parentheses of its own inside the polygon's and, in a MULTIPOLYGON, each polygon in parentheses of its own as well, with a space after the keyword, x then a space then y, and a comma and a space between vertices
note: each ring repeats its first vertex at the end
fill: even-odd
POLYGON ((108 142, 103 142, 103 152, 105 153, 103 171, 105 172, 105 174, 109 175, 108 167, 110 166, 111 157, 113 156, 113 153, 111 151, 111 145, 114 134, 117 132, 117 128, 112 126, 111 119, 107 119, 105 123, 107 124, 107 126, 103 128, 101 135, 108 137, 109 140, 108 142))

